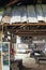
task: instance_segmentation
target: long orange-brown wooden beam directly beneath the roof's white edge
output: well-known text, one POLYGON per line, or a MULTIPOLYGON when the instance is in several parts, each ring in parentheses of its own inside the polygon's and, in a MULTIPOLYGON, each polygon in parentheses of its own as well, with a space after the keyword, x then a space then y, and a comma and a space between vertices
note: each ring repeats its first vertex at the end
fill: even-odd
POLYGON ((27 23, 24 23, 24 24, 20 24, 20 23, 18 23, 18 24, 12 24, 12 25, 10 25, 10 24, 3 24, 3 26, 46 26, 46 23, 35 23, 35 24, 27 24, 27 23))

